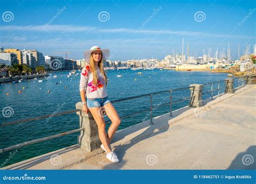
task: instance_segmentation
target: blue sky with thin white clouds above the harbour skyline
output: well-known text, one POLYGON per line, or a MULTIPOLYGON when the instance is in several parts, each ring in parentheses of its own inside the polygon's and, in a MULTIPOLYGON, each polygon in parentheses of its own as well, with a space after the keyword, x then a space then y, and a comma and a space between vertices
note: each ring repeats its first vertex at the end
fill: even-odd
POLYGON ((255 2, 1 1, 0 44, 44 55, 70 52, 73 59, 83 59, 93 45, 109 48, 111 60, 163 59, 173 49, 181 53, 184 37, 190 55, 226 49, 229 41, 232 59, 237 59, 238 44, 242 55, 246 44, 252 52, 256 43, 255 2))

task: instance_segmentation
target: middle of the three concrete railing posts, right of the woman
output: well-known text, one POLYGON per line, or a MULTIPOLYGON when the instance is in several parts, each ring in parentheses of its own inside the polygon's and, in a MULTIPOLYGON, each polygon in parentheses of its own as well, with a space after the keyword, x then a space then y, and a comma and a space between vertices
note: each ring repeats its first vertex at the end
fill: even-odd
POLYGON ((203 106, 202 92, 204 85, 203 84, 190 84, 190 107, 201 107, 203 106))

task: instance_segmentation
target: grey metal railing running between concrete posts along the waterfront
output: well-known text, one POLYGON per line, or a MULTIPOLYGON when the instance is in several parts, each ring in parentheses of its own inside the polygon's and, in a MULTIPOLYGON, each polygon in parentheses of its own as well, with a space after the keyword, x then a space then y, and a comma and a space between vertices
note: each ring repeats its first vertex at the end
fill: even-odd
MULTIPOLYGON (((238 77, 238 80, 239 80, 238 81, 238 84, 239 84, 238 88, 240 89, 240 77, 238 77)), ((225 81, 227 81, 227 80, 217 81, 217 82, 208 82, 208 83, 203 84, 204 86, 206 86, 208 84, 211 84, 211 90, 210 91, 205 91, 202 94, 211 93, 211 98, 213 98, 213 91, 218 90, 218 97, 219 97, 220 89, 223 89, 223 88, 227 87, 227 85, 226 85, 225 87, 220 88, 220 82, 225 82, 225 81), (213 83, 218 83, 218 88, 213 89, 213 83)), ((244 84, 244 78, 242 78, 242 87, 244 87, 247 84, 247 82, 248 82, 248 76, 247 76, 247 80, 246 80, 245 84, 244 84)), ((189 97, 184 97, 184 98, 181 98, 180 100, 173 101, 172 100, 172 93, 173 93, 173 91, 190 89, 190 88, 194 88, 194 87, 191 86, 191 87, 185 87, 185 88, 176 88, 176 89, 159 91, 159 92, 156 92, 156 93, 150 93, 150 94, 145 94, 145 95, 139 95, 139 96, 133 96, 133 97, 128 97, 128 98, 122 98, 122 99, 119 99, 119 100, 111 101, 111 103, 128 101, 128 100, 132 100, 132 99, 137 99, 137 98, 142 98, 142 97, 149 96, 150 97, 150 107, 149 107, 149 109, 144 109, 144 110, 140 110, 140 111, 137 111, 137 112, 133 112, 133 113, 131 113, 129 115, 125 115, 125 116, 122 116, 120 118, 123 119, 123 118, 126 118, 126 117, 130 117, 130 116, 134 116, 134 115, 140 114, 140 113, 145 112, 145 111, 150 111, 150 124, 152 125, 153 124, 153 104, 152 104, 153 95, 169 93, 170 101, 168 103, 160 104, 160 105, 158 105, 158 107, 163 107, 165 105, 170 105, 170 116, 172 117, 172 104, 173 103, 184 101, 184 100, 188 100, 188 99, 192 100, 191 99, 192 97, 190 95, 189 97)), ((80 109, 74 109, 74 110, 58 112, 58 113, 55 114, 55 116, 67 115, 67 114, 71 114, 73 112, 81 112, 81 110, 80 109)), ((39 116, 39 117, 22 119, 22 120, 13 121, 13 122, 6 122, 6 123, 2 123, 2 124, 0 123, 0 128, 2 128, 4 126, 8 126, 8 125, 14 125, 14 124, 19 124, 19 123, 27 123, 27 122, 31 122, 31 121, 37 121, 37 120, 40 120, 40 119, 49 118, 50 116, 51 116, 51 114, 44 115, 44 116, 39 116)), ((106 121, 106 122, 110 122, 110 121, 111 120, 106 121)), ((69 135, 71 133, 76 133, 76 132, 80 132, 80 131, 84 131, 84 128, 70 130, 70 131, 58 133, 56 135, 52 135, 52 136, 48 136, 48 137, 43 137, 43 138, 39 138, 39 139, 35 139, 35 140, 26 141, 25 143, 16 144, 16 145, 9 146, 9 147, 6 147, 6 148, 0 148, 0 153, 6 152, 6 151, 10 151, 10 150, 14 150, 15 148, 19 148, 19 147, 23 147, 23 146, 40 143, 40 142, 45 141, 45 140, 50 140, 50 139, 54 139, 54 138, 57 138, 57 137, 66 136, 66 135, 69 135)))

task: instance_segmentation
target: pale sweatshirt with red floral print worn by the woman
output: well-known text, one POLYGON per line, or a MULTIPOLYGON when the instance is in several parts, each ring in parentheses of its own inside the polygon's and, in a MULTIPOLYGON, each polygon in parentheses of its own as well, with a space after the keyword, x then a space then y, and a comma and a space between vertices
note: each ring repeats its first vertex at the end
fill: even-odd
POLYGON ((100 73, 98 66, 95 67, 98 75, 97 84, 95 85, 93 83, 93 75, 92 72, 90 72, 90 65, 85 65, 80 75, 79 89, 80 91, 86 91, 87 98, 104 98, 107 96, 104 75, 100 73))

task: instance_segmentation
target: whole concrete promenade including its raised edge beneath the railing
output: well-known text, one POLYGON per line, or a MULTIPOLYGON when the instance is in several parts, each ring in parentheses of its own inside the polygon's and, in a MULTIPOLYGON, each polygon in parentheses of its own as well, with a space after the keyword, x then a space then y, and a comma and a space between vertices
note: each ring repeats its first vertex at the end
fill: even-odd
MULTIPOLYGON (((98 149, 63 148, 2 169, 256 169, 256 85, 116 133, 113 164, 98 149)), ((166 107, 169 108, 169 107, 166 107)))

